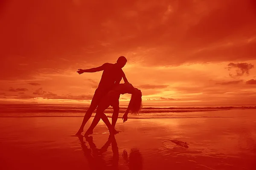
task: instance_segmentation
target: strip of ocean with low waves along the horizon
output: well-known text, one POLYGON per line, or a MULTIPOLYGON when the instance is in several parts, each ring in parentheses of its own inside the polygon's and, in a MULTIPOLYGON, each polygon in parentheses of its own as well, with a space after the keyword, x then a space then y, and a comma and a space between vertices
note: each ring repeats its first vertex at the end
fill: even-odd
MULTIPOLYGON (((89 105, 55 104, 0 104, 0 117, 83 117, 89 105)), ((119 118, 122 118, 127 105, 120 105, 119 118)), ((158 118, 232 118, 254 113, 256 105, 146 105, 138 115, 129 114, 130 119, 158 118), (244 110, 247 110, 246 113, 244 110), (244 113, 244 114, 243 114, 244 113)), ((95 116, 94 111, 92 116, 95 116)), ((112 116, 109 107, 104 112, 112 116)))

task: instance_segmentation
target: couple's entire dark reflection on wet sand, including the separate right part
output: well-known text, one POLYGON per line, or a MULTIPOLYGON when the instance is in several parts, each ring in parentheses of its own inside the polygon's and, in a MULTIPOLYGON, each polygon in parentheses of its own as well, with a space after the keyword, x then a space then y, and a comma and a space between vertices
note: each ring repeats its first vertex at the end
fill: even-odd
MULTIPOLYGON (((109 136, 108 141, 99 149, 93 142, 93 136, 85 137, 90 147, 87 147, 84 142, 84 137, 79 136, 81 147, 84 151, 84 156, 87 157, 88 164, 91 170, 118 170, 119 164, 119 150, 116 143, 115 136, 109 136), (104 154, 108 147, 111 145, 113 156, 106 162, 104 154)), ((131 148, 130 154, 126 150, 123 150, 122 157, 125 160, 125 164, 130 170, 142 170, 143 159, 138 148, 131 148)))

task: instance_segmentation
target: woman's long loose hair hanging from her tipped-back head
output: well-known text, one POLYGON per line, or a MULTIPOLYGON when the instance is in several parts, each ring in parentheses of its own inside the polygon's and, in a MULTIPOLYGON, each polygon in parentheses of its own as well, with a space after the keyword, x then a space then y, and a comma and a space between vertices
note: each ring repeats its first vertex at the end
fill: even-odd
POLYGON ((131 114, 137 115, 142 108, 142 93, 136 88, 135 93, 131 95, 131 100, 128 107, 130 107, 131 114))

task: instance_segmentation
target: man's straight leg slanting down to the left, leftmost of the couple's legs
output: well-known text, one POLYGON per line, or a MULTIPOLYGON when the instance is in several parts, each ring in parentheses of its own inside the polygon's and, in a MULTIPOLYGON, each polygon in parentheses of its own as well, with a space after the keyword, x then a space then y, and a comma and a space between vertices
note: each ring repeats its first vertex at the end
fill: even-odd
POLYGON ((88 108, 88 110, 86 111, 85 115, 84 115, 84 119, 83 119, 83 122, 78 130, 78 132, 76 133, 76 135, 81 135, 81 133, 84 131, 84 126, 85 124, 88 122, 88 120, 90 119, 90 117, 92 116, 93 114, 93 111, 97 108, 98 104, 99 104, 99 101, 102 97, 102 93, 100 91, 98 91, 96 89, 95 93, 94 93, 94 96, 93 96, 93 99, 91 101, 91 104, 90 104, 90 107, 88 108))

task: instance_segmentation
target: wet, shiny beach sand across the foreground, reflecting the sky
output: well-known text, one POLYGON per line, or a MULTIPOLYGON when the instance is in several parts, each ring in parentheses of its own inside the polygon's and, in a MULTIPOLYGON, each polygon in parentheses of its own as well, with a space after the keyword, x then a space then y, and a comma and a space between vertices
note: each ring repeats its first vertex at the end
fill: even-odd
POLYGON ((256 167, 255 117, 128 119, 125 123, 118 119, 116 129, 122 132, 116 134, 116 140, 109 141, 102 121, 87 141, 73 136, 81 121, 81 117, 0 118, 0 169, 253 170, 256 167), (169 139, 187 142, 189 147, 179 147, 169 139))

